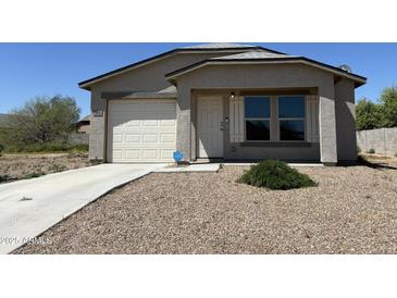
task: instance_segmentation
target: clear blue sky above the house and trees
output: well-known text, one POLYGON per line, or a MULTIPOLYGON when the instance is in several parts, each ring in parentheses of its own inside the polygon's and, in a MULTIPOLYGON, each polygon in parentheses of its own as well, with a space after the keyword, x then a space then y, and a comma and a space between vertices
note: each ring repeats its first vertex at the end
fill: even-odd
MULTIPOLYGON (((206 42, 198 42, 206 44, 206 42)), ((368 77, 356 98, 376 100, 383 88, 397 84, 397 44, 259 44, 305 55, 368 77)), ((194 44, 0 44, 0 113, 35 96, 72 96, 89 113, 89 92, 77 83, 114 69, 194 44)))

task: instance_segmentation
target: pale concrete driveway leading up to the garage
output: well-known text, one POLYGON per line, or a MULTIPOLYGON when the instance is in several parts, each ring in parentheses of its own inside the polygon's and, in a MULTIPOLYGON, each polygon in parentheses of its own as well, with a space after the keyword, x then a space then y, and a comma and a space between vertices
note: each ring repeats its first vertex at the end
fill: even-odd
POLYGON ((0 185, 0 253, 18 248, 111 189, 165 166, 100 164, 0 185))

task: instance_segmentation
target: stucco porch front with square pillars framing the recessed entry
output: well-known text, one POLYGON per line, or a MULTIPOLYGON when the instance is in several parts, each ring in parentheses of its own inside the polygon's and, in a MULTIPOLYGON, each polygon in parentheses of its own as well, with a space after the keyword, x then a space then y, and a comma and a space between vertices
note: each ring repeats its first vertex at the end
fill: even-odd
MULTIPOLYGON (((177 149, 187 160, 196 157, 195 129, 190 129, 191 92, 195 90, 238 90, 264 88, 317 88, 320 98, 320 145, 311 147, 232 147, 229 133, 225 133, 225 158, 252 159, 252 157, 283 158, 293 160, 319 160, 325 163, 336 163, 336 125, 334 104, 334 77, 331 73, 298 64, 239 64, 210 65, 186 74, 177 80, 178 86, 178 128, 177 149), (191 139, 191 141, 190 141, 191 139)), ((228 113, 228 102, 225 111, 228 113)), ((193 124, 195 125, 195 124, 193 124)))

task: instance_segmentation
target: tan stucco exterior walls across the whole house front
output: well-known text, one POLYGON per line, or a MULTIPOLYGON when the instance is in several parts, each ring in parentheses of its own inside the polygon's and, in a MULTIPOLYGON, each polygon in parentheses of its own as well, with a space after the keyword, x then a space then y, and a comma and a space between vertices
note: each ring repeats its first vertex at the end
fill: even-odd
MULTIPOLYGON (((236 51, 239 52, 239 51, 236 51)), ((103 116, 92 116, 89 136, 89 158, 106 160, 107 100, 102 92, 157 91, 171 86, 164 74, 206 58, 225 53, 179 53, 164 58, 136 70, 128 71, 91 86, 91 110, 102 111, 103 116)), ((197 90, 209 89, 264 89, 264 88, 315 88, 319 96, 319 138, 320 145, 311 149, 282 148, 281 156, 301 157, 305 160, 318 160, 336 163, 337 160, 356 159, 356 137, 353 125, 353 83, 343 79, 334 85, 334 75, 303 64, 239 64, 208 65, 185 74, 177 79, 177 149, 186 160, 196 158, 196 98, 197 90), (347 127, 345 129, 344 127, 347 127), (339 156, 339 158, 338 158, 339 156)), ((225 103, 226 104, 226 103, 225 103)), ((225 111, 229 107, 226 104, 225 111)), ((225 113, 226 114, 226 113, 225 113)), ((225 157, 236 156, 228 148, 229 134, 225 134, 225 157), (227 140, 227 144, 226 144, 227 140)), ((313 142, 315 144, 315 142, 313 142)), ((248 154, 273 157, 280 153, 277 148, 240 148, 241 157, 248 154)), ((238 158, 238 157, 237 157, 238 158)))

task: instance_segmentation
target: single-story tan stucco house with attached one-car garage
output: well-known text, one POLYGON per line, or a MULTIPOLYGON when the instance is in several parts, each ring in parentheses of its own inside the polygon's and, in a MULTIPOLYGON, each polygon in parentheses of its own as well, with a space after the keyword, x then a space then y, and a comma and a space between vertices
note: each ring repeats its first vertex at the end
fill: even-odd
POLYGON ((89 158, 353 162, 355 88, 365 82, 258 46, 177 48, 79 83, 91 92, 89 158))

